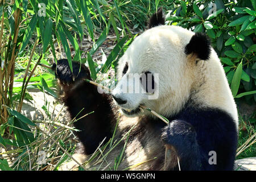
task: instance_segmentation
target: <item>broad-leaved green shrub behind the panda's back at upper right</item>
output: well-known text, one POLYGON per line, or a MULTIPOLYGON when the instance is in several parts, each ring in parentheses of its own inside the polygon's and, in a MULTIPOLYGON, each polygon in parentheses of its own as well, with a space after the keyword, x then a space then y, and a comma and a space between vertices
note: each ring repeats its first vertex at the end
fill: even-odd
POLYGON ((205 32, 224 65, 233 96, 244 96, 253 104, 256 101, 256 2, 172 2, 168 7, 171 9, 168 24, 205 32))

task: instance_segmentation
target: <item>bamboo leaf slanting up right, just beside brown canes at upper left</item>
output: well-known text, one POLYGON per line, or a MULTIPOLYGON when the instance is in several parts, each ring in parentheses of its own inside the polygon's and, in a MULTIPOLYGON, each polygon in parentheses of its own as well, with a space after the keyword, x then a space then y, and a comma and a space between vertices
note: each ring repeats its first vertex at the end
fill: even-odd
POLYGON ((34 14, 34 16, 32 16, 32 18, 31 18, 30 23, 28 24, 25 34, 23 36, 23 40, 20 45, 19 53, 21 53, 24 50, 24 48, 27 46, 27 44, 31 38, 31 35, 35 30, 37 21, 38 21, 38 19, 36 17, 36 14, 34 14))

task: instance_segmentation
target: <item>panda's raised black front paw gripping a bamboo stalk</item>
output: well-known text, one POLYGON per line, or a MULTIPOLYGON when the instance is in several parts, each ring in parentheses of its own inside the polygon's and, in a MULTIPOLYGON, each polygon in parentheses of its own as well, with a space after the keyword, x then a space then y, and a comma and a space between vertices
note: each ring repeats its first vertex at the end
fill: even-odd
POLYGON ((55 63, 52 65, 52 70, 55 72, 55 76, 61 84, 72 84, 82 78, 90 80, 90 72, 85 65, 73 61, 72 68, 73 73, 71 72, 67 59, 58 60, 57 66, 55 63))

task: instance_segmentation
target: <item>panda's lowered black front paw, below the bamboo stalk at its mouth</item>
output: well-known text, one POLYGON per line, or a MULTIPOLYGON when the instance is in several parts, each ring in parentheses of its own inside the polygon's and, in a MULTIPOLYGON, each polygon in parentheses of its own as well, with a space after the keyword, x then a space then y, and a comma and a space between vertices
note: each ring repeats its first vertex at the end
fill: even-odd
POLYGON ((162 141, 171 146, 177 154, 185 154, 197 145, 196 131, 187 122, 174 120, 163 129, 162 141))

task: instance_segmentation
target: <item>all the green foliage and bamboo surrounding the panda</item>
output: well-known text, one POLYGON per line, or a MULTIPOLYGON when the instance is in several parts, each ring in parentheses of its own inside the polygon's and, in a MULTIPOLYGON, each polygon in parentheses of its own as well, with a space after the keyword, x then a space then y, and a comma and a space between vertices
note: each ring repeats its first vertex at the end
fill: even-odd
MULTIPOLYGON (((92 78, 97 80, 100 73, 115 68, 119 57, 136 36, 134 32, 140 34, 146 29, 148 18, 158 7, 163 7, 166 12, 167 24, 205 32, 224 65, 236 101, 255 104, 255 0, 1 0, 0 146, 7 150, 1 155, 11 154, 13 161, 10 166, 6 159, 0 157, 0 169, 27 170, 32 167, 35 170, 57 170, 75 150, 75 144, 67 136, 76 129, 63 125, 59 118, 52 118, 51 111, 47 109, 49 103, 42 107, 47 115, 44 121, 31 121, 20 114, 23 100, 32 99, 28 88, 57 97, 52 89, 56 85, 53 72, 39 67, 51 66, 49 55, 54 61, 59 59, 56 45, 64 48, 71 69, 72 60, 86 63, 92 78), (44 5, 46 11, 42 11, 44 5), (106 42, 110 31, 116 35, 115 46, 105 63, 98 65, 93 56, 106 42), (82 57, 81 40, 88 37, 92 39, 92 46, 82 57), (14 82, 20 82, 22 86, 15 86, 14 82), (44 124, 47 133, 35 124, 37 122, 44 124), (14 149, 9 150, 10 146, 14 149), (47 160, 53 168, 36 163, 38 148, 47 151, 47 160)), ((248 121, 240 118, 238 147, 242 154, 238 158, 256 155, 253 144, 255 120, 255 112, 248 121)), ((114 169, 118 168, 121 159, 122 155, 118 156, 114 169)))

